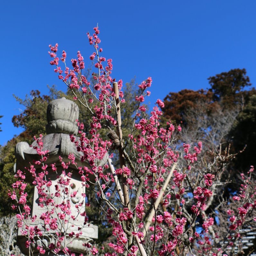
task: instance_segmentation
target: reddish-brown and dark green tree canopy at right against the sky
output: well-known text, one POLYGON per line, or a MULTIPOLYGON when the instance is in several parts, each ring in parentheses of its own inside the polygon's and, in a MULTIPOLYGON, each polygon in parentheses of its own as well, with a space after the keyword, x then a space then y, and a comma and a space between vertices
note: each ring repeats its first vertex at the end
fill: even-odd
MULTIPOLYGON (((251 87, 245 69, 231 69, 210 77, 208 80, 210 85, 208 90, 184 89, 178 93, 170 92, 164 98, 165 106, 162 109, 164 117, 194 130, 198 127, 193 127, 195 122, 192 118, 200 119, 203 111, 208 119, 206 128, 211 130, 213 123, 210 119, 218 111, 225 112, 224 117, 226 118, 230 114, 237 115, 228 134, 223 139, 231 145, 233 153, 242 151, 233 161, 232 169, 245 171, 251 165, 255 166, 256 164, 256 152, 253 149, 253 142, 256 139, 254 129, 256 90, 251 87), (188 113, 190 114, 188 115, 188 113)), ((221 122, 221 117, 219 122, 221 122)))

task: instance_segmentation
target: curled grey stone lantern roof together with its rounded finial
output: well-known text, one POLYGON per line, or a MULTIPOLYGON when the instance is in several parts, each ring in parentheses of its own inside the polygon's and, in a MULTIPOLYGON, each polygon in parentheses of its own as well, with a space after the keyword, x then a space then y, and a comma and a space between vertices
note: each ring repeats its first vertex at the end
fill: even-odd
MULTIPOLYGON (((74 154, 78 166, 84 165, 81 163, 80 157, 82 152, 78 152, 76 146, 70 141, 69 134, 78 133, 78 126, 76 120, 78 119, 79 109, 78 105, 71 100, 62 97, 61 99, 53 100, 47 107, 47 121, 46 135, 43 136, 43 150, 48 150, 48 160, 46 164, 56 163, 60 166, 59 156, 63 161, 69 161, 69 154, 74 154)), ((37 146, 36 141, 32 146, 37 146)), ((39 160, 40 156, 36 150, 27 142, 19 142, 15 147, 16 165, 15 170, 24 169, 32 164, 34 160, 39 160)), ((35 166, 36 168, 36 166, 35 166)), ((40 167, 38 167, 40 168, 40 167)), ((30 181, 29 174, 27 180, 30 181)))

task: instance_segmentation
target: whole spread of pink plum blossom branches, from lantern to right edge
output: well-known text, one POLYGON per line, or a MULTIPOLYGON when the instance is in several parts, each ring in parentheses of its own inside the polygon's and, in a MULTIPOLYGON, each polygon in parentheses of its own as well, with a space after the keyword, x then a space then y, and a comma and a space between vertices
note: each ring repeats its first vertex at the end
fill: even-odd
POLYGON ((87 33, 93 47, 88 60, 94 61, 94 82, 89 82, 83 74, 85 61, 80 51, 76 59, 71 59, 69 68, 66 52, 62 51, 58 57, 58 44, 50 45, 50 64, 55 66, 59 79, 70 88, 74 100, 88 110, 91 122, 87 133, 85 125, 78 122, 78 136, 70 135, 81 153, 83 166, 76 164, 73 155, 69 156, 68 162, 59 158, 60 170, 55 163, 48 166, 48 152, 42 150, 41 138, 37 140, 35 150, 40 159, 26 170, 26 175, 32 175, 33 185, 40 194, 38 204, 42 213, 37 225, 32 224, 37 216, 30 216, 30 207, 26 204, 25 175, 17 172, 17 181, 9 195, 17 205, 23 206, 23 210, 17 205, 13 208, 20 207, 17 219, 27 237, 26 245, 31 251, 37 246, 41 254, 52 251, 56 255, 74 255, 69 244, 80 237, 82 229, 90 222, 85 206, 98 204, 105 223, 112 228, 111 239, 107 242, 107 252, 97 241, 85 243, 83 246, 91 255, 224 255, 228 246, 232 246, 232 234, 239 237, 238 227, 242 227, 248 218, 255 218, 251 217, 255 209, 255 189, 253 192, 249 189, 253 168, 247 178, 241 176, 240 192, 230 199, 239 207, 236 211, 228 210, 226 221, 229 227, 221 238, 213 231, 217 225, 216 211, 207 212, 216 196, 215 181, 219 172, 211 173, 207 169, 197 172, 202 142, 197 145, 175 143, 181 126, 170 120, 160 123, 164 102, 158 99, 152 111, 147 112, 142 103, 150 95, 150 77, 139 85, 139 94, 134 98, 137 109, 131 117, 133 125, 125 138, 126 144, 123 143, 120 119, 120 108, 125 101, 123 82, 111 78, 112 59, 101 55, 99 33, 98 27, 92 35, 87 33), (104 136, 106 131, 110 131, 108 138, 104 136), (114 166, 111 159, 114 162, 117 156, 119 162, 116 161, 114 166), (80 175, 81 195, 72 188, 71 165, 76 166, 80 175), (35 166, 40 166, 40 172, 35 166), (57 174, 57 182, 49 178, 49 172, 57 174), (88 201, 88 189, 93 191, 94 201, 88 201), (73 201, 77 203, 75 209, 71 207, 73 201), (63 227, 69 227, 78 216, 84 219, 82 226, 76 232, 68 232, 67 228, 65 233, 63 227), (46 246, 42 239, 45 233, 57 242, 46 246), (36 243, 36 238, 41 239, 41 243, 36 243))

